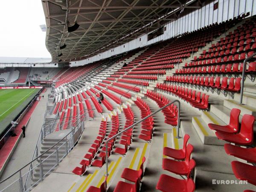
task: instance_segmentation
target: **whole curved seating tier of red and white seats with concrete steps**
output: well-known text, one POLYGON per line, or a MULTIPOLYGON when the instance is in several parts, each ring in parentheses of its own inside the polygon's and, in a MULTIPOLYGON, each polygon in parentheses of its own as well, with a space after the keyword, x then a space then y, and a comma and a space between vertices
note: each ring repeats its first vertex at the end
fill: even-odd
POLYGON ((79 67, 1 69, 3 84, 54 80, 22 191, 256 191, 255 23, 234 17, 79 67))

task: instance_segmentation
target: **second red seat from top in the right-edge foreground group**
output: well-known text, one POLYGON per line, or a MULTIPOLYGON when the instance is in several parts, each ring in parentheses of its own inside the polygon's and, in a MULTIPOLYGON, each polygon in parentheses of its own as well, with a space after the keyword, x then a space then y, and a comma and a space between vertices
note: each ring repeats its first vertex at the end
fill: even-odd
POLYGON ((251 145, 253 143, 253 125, 255 117, 244 114, 242 117, 241 128, 238 134, 229 134, 216 131, 215 134, 220 140, 225 140, 238 145, 251 145))

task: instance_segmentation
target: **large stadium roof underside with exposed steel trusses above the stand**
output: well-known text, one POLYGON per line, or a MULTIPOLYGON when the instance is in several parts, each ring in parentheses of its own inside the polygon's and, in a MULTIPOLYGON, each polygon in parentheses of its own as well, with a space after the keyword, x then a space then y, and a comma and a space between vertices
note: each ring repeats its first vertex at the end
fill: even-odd
POLYGON ((180 12, 199 9, 202 1, 42 0, 46 46, 52 62, 87 58, 176 20, 180 12), (67 32, 75 22, 79 28, 67 32), (66 48, 60 50, 63 45, 66 48))

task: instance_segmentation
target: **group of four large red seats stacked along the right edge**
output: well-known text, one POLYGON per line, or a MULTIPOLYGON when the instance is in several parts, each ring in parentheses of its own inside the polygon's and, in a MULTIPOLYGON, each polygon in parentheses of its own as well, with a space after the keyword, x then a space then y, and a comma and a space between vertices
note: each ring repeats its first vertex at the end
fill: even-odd
MULTIPOLYGON (((233 155, 250 163, 256 163, 256 148, 251 148, 253 144, 253 126, 255 117, 244 114, 239 124, 239 115, 241 111, 233 108, 230 111, 230 123, 228 125, 216 125, 209 123, 210 129, 216 131, 215 134, 220 140, 225 140, 232 144, 225 144, 224 149, 227 154, 233 155), (247 148, 241 147, 246 146, 247 148)), ((256 166, 232 161, 231 166, 233 173, 239 180, 247 180, 248 183, 256 185, 256 166)))

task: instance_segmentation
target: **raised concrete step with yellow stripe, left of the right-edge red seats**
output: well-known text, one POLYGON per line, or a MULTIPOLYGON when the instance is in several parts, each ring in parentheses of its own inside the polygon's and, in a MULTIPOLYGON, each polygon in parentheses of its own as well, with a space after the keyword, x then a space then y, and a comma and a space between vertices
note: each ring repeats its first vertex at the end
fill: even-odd
POLYGON ((215 131, 212 131, 201 117, 192 117, 192 125, 202 143, 206 145, 224 145, 225 142, 218 140, 215 131))

